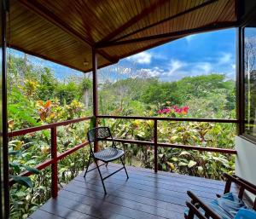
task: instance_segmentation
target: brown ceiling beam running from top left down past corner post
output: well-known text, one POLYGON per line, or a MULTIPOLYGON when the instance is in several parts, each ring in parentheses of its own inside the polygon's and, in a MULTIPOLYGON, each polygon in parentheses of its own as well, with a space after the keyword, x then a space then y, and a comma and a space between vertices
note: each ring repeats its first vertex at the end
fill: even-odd
MULTIPOLYGON (((79 34, 79 32, 74 31, 73 28, 71 28, 70 26, 67 26, 67 24, 63 20, 59 19, 59 17, 57 17, 54 13, 50 12, 48 9, 45 9, 43 5, 37 3, 36 1, 32 1, 32 2, 26 1, 26 0, 18 0, 18 1, 27 9, 40 15, 45 20, 48 20, 50 23, 61 28, 62 31, 67 32, 70 36, 76 38, 80 43, 83 43, 89 48, 94 47, 94 43, 84 38, 84 36, 79 34)), ((107 55, 106 53, 100 52, 99 54, 102 55, 102 57, 104 57, 106 60, 110 62, 116 62, 116 60, 113 60, 113 58, 107 55)))

